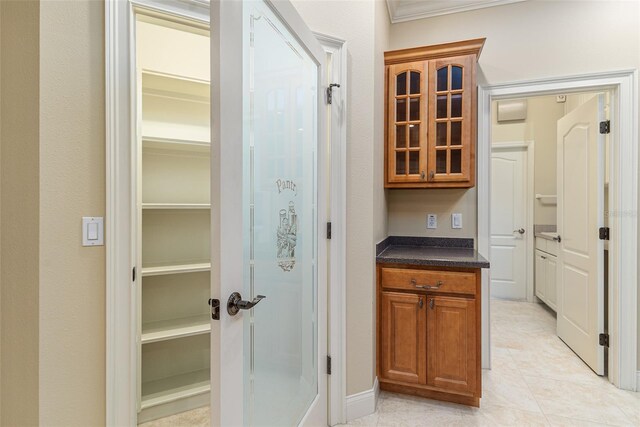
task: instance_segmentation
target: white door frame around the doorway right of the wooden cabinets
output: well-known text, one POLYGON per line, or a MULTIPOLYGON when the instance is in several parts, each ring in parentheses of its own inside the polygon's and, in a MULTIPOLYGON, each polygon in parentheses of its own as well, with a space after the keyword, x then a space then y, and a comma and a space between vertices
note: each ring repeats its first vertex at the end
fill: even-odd
MULTIPOLYGON (((636 390, 638 295, 638 71, 622 70, 478 87, 478 201, 490 200, 491 101, 576 92, 611 93, 609 157, 609 380, 636 390)), ((478 251, 489 253, 490 206, 478 203, 478 251)), ((490 368, 490 272, 483 270, 482 360, 490 368)))

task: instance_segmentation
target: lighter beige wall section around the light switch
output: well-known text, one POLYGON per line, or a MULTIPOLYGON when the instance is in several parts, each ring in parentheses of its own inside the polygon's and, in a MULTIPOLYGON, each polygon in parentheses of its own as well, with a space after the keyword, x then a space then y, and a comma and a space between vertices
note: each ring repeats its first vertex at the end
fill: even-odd
POLYGON ((105 420, 104 4, 40 6, 40 423, 105 420))

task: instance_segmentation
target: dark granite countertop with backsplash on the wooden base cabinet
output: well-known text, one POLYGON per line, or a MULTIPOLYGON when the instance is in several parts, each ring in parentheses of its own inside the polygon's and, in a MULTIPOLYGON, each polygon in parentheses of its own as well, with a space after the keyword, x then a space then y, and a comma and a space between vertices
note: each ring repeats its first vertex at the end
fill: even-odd
POLYGON ((435 267, 489 268, 473 239, 390 236, 376 247, 376 262, 435 267))

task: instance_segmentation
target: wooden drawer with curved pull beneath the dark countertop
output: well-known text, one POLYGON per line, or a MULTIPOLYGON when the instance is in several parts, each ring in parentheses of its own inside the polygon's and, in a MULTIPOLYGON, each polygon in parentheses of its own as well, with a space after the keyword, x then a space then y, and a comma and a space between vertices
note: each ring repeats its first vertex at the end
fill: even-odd
POLYGON ((383 268, 382 287, 411 291, 476 293, 475 273, 383 268))

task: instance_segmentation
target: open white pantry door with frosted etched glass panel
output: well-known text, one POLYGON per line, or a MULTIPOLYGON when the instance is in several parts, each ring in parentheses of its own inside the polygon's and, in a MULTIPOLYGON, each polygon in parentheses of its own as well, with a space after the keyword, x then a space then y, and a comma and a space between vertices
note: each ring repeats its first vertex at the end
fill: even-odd
POLYGON ((212 423, 326 425, 325 53, 287 1, 211 8, 212 423))

